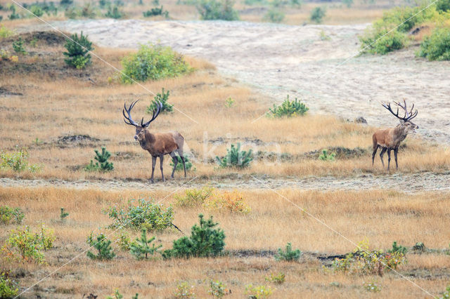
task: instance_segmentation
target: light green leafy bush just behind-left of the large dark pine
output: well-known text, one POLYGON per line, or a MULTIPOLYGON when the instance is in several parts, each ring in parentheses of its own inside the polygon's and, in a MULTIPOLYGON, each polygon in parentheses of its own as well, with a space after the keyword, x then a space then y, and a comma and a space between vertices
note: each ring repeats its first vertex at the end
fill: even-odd
POLYGON ((106 213, 114 220, 110 228, 131 228, 142 230, 145 228, 149 232, 155 230, 165 230, 172 225, 174 211, 169 206, 165 211, 161 204, 154 204, 152 201, 139 199, 138 205, 134 206, 133 200, 128 201, 128 206, 110 206, 106 213))

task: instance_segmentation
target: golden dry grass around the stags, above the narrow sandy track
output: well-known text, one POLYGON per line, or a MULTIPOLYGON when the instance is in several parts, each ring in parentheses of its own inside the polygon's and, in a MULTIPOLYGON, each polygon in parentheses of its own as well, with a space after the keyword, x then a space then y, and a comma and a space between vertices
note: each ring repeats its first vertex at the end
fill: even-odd
MULTIPOLYGON (((10 46, 10 40, 3 41, 3 44, 10 46)), ((68 69, 61 55, 64 51, 62 44, 48 46, 39 41, 37 48, 29 51, 30 55, 20 57, 18 63, 0 62, 8 71, 0 75, 1 85, 7 91, 0 98, 1 150, 12 152, 18 147, 27 148, 30 163, 44 167, 34 174, 1 171, 0 175, 66 180, 148 178, 150 157, 134 142, 134 128, 123 123, 121 110, 123 102, 130 103, 139 98, 141 101, 132 114, 135 119, 143 115, 148 118, 144 109, 153 95, 136 84, 115 83, 117 74, 114 70, 95 58, 93 65, 84 71, 68 69), (38 53, 45 55, 38 56, 38 53), (61 141, 70 135, 89 135, 92 140, 61 141), (101 146, 112 153, 115 171, 86 173, 82 168, 94 158, 94 149, 101 146)), ((96 47, 96 53, 120 68, 120 59, 129 51, 96 47)), ((190 175, 212 178, 217 174, 233 173, 230 170, 218 171, 214 158, 224 155, 229 144, 236 142, 243 142, 244 148, 252 148, 255 152, 285 153, 291 157, 279 160, 277 164, 266 160, 254 161, 242 173, 281 177, 384 173, 378 157, 375 168, 371 166, 371 135, 375 128, 316 115, 314 111, 306 117, 262 117, 252 123, 267 111, 271 101, 282 100, 285 95, 279 99, 264 98, 233 79, 219 77, 209 62, 186 59, 197 69, 193 74, 149 81, 143 86, 155 93, 162 88, 171 91, 169 102, 178 110, 158 117, 150 130, 176 130, 184 135, 186 148, 192 153, 195 164, 195 173, 190 175), (225 107, 229 97, 236 100, 231 108, 225 107), (334 162, 305 156, 305 153, 328 147, 361 147, 366 154, 334 162)), ((399 171, 448 170, 448 149, 430 145, 413 135, 406 139, 405 144, 399 153, 399 171)), ((169 168, 169 159, 165 159, 166 173, 169 168)))

